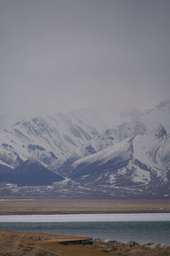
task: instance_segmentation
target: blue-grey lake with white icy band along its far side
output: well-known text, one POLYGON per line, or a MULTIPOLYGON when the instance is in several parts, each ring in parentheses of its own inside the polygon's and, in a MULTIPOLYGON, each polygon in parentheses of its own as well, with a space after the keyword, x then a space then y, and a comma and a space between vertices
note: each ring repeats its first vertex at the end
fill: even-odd
POLYGON ((6 215, 0 228, 170 244, 170 213, 6 215))

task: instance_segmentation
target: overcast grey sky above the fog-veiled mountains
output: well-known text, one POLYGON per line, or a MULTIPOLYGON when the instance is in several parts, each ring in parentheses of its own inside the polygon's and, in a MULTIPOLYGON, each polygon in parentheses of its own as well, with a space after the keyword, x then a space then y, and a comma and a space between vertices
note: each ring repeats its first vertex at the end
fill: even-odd
POLYGON ((0 0, 0 114, 170 95, 169 0, 0 0))

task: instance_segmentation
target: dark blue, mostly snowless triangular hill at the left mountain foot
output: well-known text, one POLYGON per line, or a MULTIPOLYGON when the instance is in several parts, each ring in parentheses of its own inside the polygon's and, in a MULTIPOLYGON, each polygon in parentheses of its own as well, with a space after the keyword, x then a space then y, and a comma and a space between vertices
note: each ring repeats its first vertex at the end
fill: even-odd
POLYGON ((63 181, 62 176, 54 174, 42 164, 25 161, 13 169, 1 175, 0 181, 17 184, 18 186, 45 186, 53 182, 63 181))

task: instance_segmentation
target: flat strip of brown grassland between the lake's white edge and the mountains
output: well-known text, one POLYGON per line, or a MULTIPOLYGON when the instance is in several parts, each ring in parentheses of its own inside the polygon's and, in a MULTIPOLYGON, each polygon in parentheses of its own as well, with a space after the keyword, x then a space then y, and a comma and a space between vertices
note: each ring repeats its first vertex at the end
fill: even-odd
POLYGON ((170 200, 74 201, 51 199, 1 201, 0 215, 55 213, 164 213, 170 212, 170 200))

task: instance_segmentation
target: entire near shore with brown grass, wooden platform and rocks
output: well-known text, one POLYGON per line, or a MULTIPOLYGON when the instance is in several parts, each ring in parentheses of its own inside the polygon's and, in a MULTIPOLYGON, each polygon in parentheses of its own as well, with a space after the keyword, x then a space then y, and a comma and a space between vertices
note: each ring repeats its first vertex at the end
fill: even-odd
POLYGON ((80 241, 91 238, 49 235, 44 233, 28 233, 0 230, 1 256, 169 256, 170 247, 160 245, 137 245, 135 242, 120 243, 114 240, 94 240, 93 245, 81 245, 80 241), (63 245, 61 242, 70 242, 63 245), (79 245, 74 245, 77 242, 79 245))

